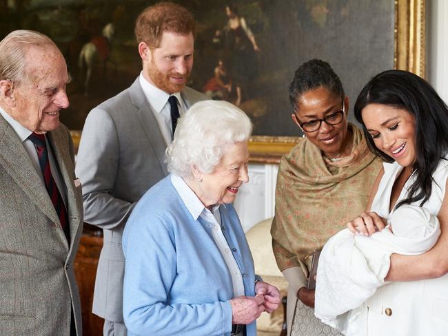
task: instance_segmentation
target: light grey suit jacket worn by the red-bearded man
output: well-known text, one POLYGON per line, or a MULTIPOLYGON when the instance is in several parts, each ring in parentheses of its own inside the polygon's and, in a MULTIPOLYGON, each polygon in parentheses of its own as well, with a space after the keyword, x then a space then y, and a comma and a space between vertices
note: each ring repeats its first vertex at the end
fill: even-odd
MULTIPOLYGON (((187 107, 207 98, 189 87, 181 95, 187 107)), ((92 311, 112 322, 123 323, 125 222, 141 196, 167 175, 165 149, 139 78, 85 120, 76 172, 83 185, 85 222, 104 233, 92 311)))

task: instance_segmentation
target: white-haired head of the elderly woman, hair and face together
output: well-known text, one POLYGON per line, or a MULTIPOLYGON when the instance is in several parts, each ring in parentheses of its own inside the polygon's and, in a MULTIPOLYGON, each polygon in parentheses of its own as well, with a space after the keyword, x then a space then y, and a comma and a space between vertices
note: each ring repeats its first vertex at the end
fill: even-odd
POLYGON ((249 180, 250 118, 226 101, 201 101, 179 119, 166 151, 168 170, 185 180, 205 207, 234 202, 249 180))

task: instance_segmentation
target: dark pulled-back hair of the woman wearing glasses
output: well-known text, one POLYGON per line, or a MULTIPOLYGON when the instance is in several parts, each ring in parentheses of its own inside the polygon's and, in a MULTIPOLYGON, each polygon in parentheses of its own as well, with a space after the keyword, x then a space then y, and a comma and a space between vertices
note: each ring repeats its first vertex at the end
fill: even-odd
POLYGON ((291 101, 294 111, 298 109, 297 103, 302 94, 319 87, 325 87, 329 92, 340 96, 340 98, 345 96, 338 75, 327 62, 312 59, 298 67, 289 85, 289 101, 291 101))

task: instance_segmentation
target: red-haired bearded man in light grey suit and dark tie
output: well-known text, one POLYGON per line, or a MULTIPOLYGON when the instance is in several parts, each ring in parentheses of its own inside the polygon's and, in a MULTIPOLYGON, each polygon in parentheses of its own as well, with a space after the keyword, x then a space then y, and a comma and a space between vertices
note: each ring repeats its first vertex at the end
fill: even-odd
POLYGON ((85 222, 103 229, 93 313, 104 335, 126 335, 121 236, 136 202, 167 175, 165 149, 179 115, 206 98, 186 87, 193 66, 192 14, 174 3, 143 10, 135 34, 143 71, 126 90, 92 109, 83 129, 76 173, 85 222))

